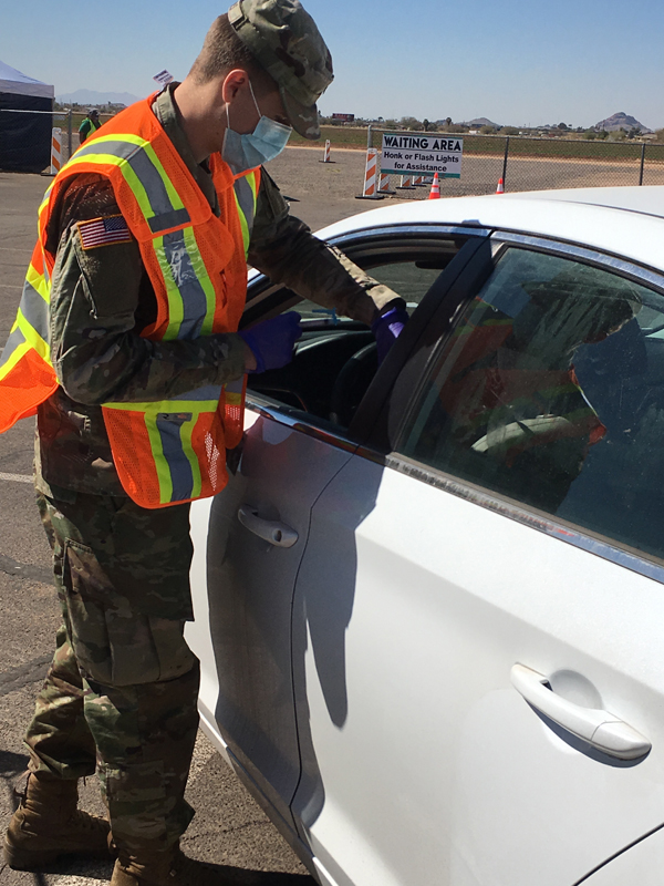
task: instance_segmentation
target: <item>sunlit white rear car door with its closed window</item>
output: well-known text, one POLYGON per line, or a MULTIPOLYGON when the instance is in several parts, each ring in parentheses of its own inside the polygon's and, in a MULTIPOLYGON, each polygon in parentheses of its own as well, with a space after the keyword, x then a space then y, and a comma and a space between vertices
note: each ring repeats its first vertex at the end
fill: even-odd
POLYGON ((664 278, 492 243, 312 512, 292 808, 336 886, 573 886, 664 823, 664 278))

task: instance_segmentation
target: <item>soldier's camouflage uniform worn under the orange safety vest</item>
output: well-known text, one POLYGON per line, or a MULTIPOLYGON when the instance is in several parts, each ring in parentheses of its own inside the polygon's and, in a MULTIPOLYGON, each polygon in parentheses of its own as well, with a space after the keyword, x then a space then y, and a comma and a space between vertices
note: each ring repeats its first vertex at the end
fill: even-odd
MULTIPOLYGON (((243 3, 252 6, 270 3, 243 3)), ((178 122, 174 86, 155 113, 219 214, 207 165, 196 163, 178 122)), ((311 121, 303 125, 311 134, 311 121)), ((198 724, 198 662, 183 637, 193 617, 189 508, 145 511, 126 497, 101 403, 222 384, 243 373, 245 346, 237 334, 141 338, 156 299, 137 244, 83 250, 80 241, 80 222, 118 213, 108 182, 81 175, 48 231, 58 256, 51 356, 62 387, 39 409, 35 474, 63 626, 25 741, 31 767, 62 779, 93 773, 96 760, 116 843, 167 848, 193 815, 184 800, 198 724)), ((396 298, 291 218, 264 172, 249 260, 274 282, 367 323, 396 298)))

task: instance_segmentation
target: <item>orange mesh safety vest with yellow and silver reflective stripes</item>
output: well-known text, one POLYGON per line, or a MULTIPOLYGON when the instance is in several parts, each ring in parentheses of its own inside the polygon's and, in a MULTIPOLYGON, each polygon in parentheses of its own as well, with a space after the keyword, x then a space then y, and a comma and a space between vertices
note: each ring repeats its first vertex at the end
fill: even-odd
MULTIPOLYGON (((143 337, 173 341, 238 329, 260 169, 234 176, 220 155, 212 155, 217 218, 153 113, 154 97, 91 135, 46 190, 17 321, 0 356, 0 433, 34 415, 59 387, 49 346, 55 256, 46 250, 46 229, 71 176, 106 176, 138 241, 157 300, 157 318, 143 337)), ((220 492, 228 480, 226 447, 236 446, 242 435, 245 390, 246 377, 174 400, 104 403, 113 459, 127 495, 142 507, 158 508, 220 492)))

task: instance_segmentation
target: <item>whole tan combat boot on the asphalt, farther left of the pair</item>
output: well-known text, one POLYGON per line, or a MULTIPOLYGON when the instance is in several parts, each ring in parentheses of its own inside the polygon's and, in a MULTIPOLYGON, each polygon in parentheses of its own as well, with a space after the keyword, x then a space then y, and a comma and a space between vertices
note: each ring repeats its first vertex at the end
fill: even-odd
POLYGON ((4 838, 4 858, 17 870, 39 870, 61 855, 104 857, 108 848, 108 823, 80 812, 75 781, 45 779, 27 772, 14 789, 20 797, 4 838))

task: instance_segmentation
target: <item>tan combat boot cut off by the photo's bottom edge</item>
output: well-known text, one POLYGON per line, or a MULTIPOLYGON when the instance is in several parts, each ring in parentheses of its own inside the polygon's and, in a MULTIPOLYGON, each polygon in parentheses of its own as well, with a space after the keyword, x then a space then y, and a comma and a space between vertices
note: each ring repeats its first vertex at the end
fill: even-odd
POLYGON ((111 886, 237 886, 238 880, 204 862, 187 858, 176 846, 170 852, 118 851, 111 886))

